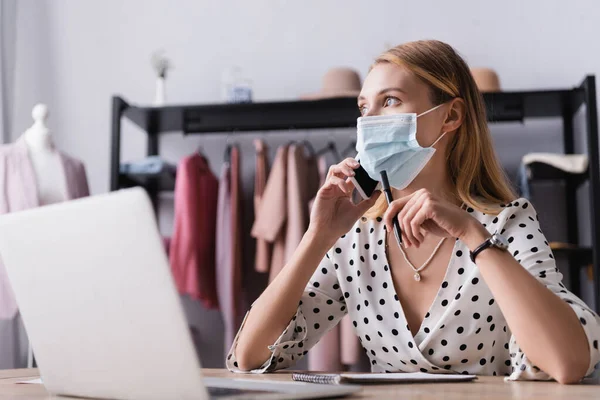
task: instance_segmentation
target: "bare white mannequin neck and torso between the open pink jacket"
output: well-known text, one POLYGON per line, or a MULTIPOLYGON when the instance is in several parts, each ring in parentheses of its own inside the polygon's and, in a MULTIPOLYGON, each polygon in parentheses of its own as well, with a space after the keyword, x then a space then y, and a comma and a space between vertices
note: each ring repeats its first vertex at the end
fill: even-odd
POLYGON ((40 205, 67 200, 67 184, 62 160, 46 126, 48 107, 37 104, 31 112, 34 123, 24 133, 29 158, 36 176, 40 205))

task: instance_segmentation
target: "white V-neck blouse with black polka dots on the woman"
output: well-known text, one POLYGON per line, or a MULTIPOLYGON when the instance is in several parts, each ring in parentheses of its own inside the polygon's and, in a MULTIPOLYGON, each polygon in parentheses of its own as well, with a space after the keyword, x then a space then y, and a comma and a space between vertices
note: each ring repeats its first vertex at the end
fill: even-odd
MULTIPOLYGON (((515 259, 573 308, 588 338, 588 374, 591 374, 600 362, 600 318, 565 289, 529 201, 518 199, 503 208, 496 216, 471 208, 467 211, 490 233, 505 236, 515 259)), ((381 219, 363 219, 337 241, 307 285, 296 315, 269 346, 272 357, 251 372, 292 366, 349 314, 373 372, 422 371, 504 375, 511 380, 550 379, 519 348, 492 293, 470 261, 468 248, 459 240, 454 245, 446 276, 413 337, 394 290, 385 252, 385 233, 381 219)), ((242 372, 237 367, 236 344, 237 336, 227 356, 227 367, 242 372)))

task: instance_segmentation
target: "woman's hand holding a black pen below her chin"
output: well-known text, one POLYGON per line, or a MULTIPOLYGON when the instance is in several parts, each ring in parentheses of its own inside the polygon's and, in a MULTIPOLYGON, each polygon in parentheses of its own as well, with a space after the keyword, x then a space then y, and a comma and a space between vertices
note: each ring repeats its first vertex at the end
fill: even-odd
POLYGON ((463 241, 467 236, 489 236, 483 225, 469 213, 426 189, 417 190, 389 205, 383 217, 387 229, 392 228, 395 215, 398 215, 402 240, 407 246, 419 247, 426 232, 463 241))

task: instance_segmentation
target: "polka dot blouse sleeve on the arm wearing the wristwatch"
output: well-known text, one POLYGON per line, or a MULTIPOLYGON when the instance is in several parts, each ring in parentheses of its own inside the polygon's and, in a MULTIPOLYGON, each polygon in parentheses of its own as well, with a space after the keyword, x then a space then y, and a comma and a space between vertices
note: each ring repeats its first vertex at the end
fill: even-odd
MULTIPOLYGON (((563 285, 562 274, 556 267, 552 250, 540 229, 535 209, 528 200, 518 199, 508 204, 499 218, 505 222, 500 233, 508 239, 510 253, 541 283, 567 302, 577 314, 590 348, 590 365, 586 375, 593 373, 594 367, 600 362, 600 318, 563 285)), ((507 380, 551 379, 527 358, 514 335, 510 338, 509 355, 512 374, 507 380)))

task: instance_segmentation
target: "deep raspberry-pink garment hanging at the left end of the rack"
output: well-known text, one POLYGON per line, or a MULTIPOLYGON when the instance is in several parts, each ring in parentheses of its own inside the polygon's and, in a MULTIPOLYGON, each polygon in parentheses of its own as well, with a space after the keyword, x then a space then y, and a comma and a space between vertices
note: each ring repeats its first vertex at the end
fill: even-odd
POLYGON ((218 181, 199 154, 181 160, 175 181, 175 222, 169 259, 181 294, 218 308, 215 227, 218 181))

